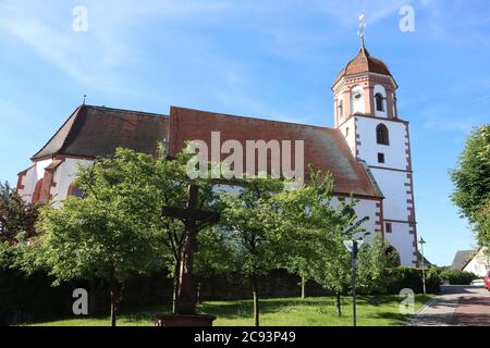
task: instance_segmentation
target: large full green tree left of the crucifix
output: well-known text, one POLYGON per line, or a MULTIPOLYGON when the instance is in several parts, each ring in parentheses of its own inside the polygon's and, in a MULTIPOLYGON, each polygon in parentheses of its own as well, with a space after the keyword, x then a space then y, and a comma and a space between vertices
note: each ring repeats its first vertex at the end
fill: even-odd
POLYGON ((76 185, 84 198, 70 197, 61 208, 40 213, 37 264, 48 266, 58 283, 106 279, 113 326, 121 283, 162 269, 170 257, 160 216, 163 191, 175 183, 161 172, 155 158, 118 149, 79 167, 76 185))

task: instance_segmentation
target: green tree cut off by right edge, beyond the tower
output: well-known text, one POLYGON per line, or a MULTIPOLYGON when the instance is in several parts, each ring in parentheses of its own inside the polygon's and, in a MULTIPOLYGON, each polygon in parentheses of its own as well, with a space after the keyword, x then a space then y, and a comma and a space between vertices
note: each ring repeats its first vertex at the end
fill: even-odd
POLYGON ((451 178, 453 202, 474 226, 478 243, 490 246, 490 124, 471 133, 451 178))

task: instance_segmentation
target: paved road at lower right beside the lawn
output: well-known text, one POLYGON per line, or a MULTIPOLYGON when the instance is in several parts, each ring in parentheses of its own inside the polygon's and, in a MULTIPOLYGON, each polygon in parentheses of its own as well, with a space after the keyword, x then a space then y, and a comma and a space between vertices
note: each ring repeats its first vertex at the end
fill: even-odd
POLYGON ((426 304, 412 326, 490 326, 490 291, 483 287, 443 286, 442 295, 426 304))

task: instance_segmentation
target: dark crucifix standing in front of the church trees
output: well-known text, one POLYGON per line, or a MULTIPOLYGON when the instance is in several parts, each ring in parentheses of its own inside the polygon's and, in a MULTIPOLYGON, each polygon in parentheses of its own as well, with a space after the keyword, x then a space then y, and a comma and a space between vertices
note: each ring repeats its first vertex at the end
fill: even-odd
POLYGON ((175 298, 175 313, 196 314, 196 296, 193 288, 193 263, 197 252, 197 234, 206 226, 217 223, 220 214, 198 209, 199 187, 189 185, 187 208, 164 207, 162 215, 179 219, 184 224, 181 260, 179 266, 179 287, 175 298))

